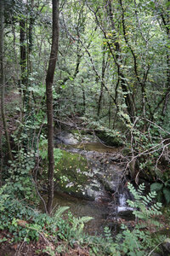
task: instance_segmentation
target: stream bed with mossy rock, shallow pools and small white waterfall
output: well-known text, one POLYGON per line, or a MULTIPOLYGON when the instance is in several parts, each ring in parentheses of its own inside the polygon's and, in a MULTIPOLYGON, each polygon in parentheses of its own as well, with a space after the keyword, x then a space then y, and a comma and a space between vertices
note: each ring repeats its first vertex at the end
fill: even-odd
POLYGON ((60 132, 55 141, 56 147, 64 152, 59 162, 59 170, 62 167, 64 172, 56 178, 54 206, 70 207, 77 218, 93 217, 85 228, 90 235, 102 234, 105 226, 117 232, 117 219, 133 218, 133 209, 127 207, 130 195, 121 183, 124 167, 121 148, 108 147, 91 135, 80 139, 70 131, 60 132))

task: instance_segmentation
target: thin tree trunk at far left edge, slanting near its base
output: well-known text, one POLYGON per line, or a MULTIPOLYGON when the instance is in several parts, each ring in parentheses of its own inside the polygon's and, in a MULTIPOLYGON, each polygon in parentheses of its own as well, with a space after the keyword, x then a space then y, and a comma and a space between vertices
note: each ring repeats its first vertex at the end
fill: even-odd
POLYGON ((5 137, 8 147, 8 157, 10 160, 13 160, 13 155, 11 152, 10 141, 8 136, 8 127, 5 115, 4 108, 4 90, 5 90, 5 79, 4 79, 4 39, 3 39, 3 30, 4 30, 4 1, 0 0, 0 88, 1 88, 1 114, 3 119, 3 129, 5 131, 5 137))

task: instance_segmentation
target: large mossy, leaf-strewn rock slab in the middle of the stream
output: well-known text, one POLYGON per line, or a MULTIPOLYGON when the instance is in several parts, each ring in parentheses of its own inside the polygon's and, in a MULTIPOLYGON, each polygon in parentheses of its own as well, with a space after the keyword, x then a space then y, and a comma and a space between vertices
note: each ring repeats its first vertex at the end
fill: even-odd
POLYGON ((93 200, 117 191, 123 175, 123 168, 117 165, 122 160, 117 148, 107 147, 97 142, 94 135, 81 131, 62 131, 56 142, 65 151, 56 165, 55 188, 93 200))

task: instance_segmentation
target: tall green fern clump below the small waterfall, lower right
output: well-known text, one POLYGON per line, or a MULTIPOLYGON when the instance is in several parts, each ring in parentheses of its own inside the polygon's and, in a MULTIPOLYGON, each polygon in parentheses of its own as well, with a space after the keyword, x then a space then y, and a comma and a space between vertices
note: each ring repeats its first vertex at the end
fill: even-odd
POLYGON ((127 202, 130 207, 133 207, 133 214, 138 222, 133 230, 122 224, 123 231, 122 234, 116 236, 116 242, 122 241, 121 250, 127 255, 146 255, 150 248, 156 247, 157 244, 165 240, 165 237, 162 236, 151 236, 150 231, 145 229, 152 225, 157 230, 161 227, 160 222, 155 219, 156 216, 161 215, 161 203, 153 202, 156 198, 155 191, 144 195, 144 184, 139 185, 139 189, 136 190, 131 183, 128 183, 128 189, 132 193, 134 201, 128 200, 127 202))

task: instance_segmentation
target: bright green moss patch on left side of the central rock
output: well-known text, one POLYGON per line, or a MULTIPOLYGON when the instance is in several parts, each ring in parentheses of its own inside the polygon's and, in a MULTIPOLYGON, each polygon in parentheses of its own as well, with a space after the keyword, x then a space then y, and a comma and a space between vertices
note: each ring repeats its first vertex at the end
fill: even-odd
POLYGON ((57 189, 72 194, 82 193, 88 184, 90 172, 91 168, 84 157, 62 150, 62 157, 54 168, 57 189))

